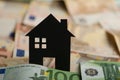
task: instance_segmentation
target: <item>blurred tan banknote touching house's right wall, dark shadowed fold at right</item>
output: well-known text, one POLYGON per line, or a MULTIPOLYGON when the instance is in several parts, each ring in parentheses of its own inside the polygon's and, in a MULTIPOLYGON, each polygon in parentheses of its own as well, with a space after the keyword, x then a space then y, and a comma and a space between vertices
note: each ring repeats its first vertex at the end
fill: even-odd
POLYGON ((111 38, 106 30, 100 28, 99 24, 76 26, 71 32, 76 36, 71 41, 72 51, 101 57, 119 58, 114 38, 111 38))

